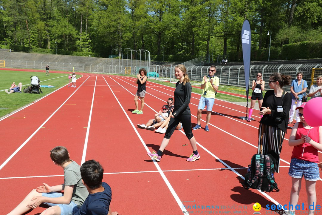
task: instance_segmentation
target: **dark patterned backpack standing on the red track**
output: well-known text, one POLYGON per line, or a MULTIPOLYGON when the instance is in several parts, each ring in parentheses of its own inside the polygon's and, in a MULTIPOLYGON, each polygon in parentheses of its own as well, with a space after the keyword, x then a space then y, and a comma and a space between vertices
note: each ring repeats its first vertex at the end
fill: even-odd
POLYGON ((276 160, 271 155, 254 154, 249 165, 249 172, 245 175, 243 187, 253 188, 261 191, 279 191, 277 183, 272 176, 276 160))

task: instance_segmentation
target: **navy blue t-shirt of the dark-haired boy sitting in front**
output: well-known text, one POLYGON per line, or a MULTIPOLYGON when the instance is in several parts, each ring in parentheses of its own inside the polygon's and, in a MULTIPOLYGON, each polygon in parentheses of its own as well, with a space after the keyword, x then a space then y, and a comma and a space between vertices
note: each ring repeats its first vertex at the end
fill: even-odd
POLYGON ((75 215, 107 215, 109 213, 112 191, 107 183, 102 182, 102 186, 105 190, 103 192, 89 194, 75 215))

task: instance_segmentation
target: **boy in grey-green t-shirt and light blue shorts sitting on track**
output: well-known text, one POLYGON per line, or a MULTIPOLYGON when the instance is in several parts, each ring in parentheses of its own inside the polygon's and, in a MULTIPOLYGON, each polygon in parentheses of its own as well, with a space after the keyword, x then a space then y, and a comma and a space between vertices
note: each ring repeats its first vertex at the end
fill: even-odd
POLYGON ((50 206, 40 215, 72 215, 75 214, 88 196, 88 191, 81 181, 80 166, 69 158, 67 149, 57 146, 50 151, 54 164, 64 170, 64 183, 56 186, 43 186, 32 190, 20 204, 8 215, 20 215, 37 208, 41 203, 50 206), (57 191, 64 191, 60 193, 57 191))

